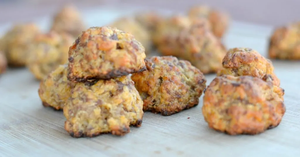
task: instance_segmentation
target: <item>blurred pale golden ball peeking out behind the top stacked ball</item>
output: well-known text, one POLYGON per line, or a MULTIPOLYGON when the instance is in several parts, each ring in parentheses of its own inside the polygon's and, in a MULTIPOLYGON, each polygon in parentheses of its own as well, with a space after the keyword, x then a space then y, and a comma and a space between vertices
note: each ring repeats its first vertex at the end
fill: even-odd
POLYGON ((134 35, 134 38, 139 41, 145 48, 146 53, 152 50, 150 34, 145 27, 138 23, 134 18, 122 17, 109 25, 116 27, 119 30, 134 35))

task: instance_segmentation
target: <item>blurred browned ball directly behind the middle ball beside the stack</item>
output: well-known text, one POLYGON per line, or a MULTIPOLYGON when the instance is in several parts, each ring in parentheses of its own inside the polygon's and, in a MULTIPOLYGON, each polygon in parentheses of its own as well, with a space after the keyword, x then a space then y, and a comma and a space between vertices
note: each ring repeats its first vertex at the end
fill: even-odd
POLYGON ((193 25, 180 32, 177 40, 179 56, 188 60, 204 74, 222 69, 226 47, 216 38, 203 20, 194 20, 193 25))

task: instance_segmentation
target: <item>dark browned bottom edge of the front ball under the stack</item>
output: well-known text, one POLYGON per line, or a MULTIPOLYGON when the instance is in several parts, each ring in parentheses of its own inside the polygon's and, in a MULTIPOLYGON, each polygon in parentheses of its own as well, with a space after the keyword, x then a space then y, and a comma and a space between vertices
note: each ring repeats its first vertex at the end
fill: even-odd
MULTIPOLYGON (((139 120, 137 120, 137 122, 135 124, 131 124, 131 126, 140 127, 140 126, 142 126, 142 122, 143 122, 143 119, 139 119, 139 120)), ((78 132, 71 131, 71 129, 69 129, 69 124, 67 121, 65 121, 65 123, 64 123, 64 129, 70 134, 71 137, 74 137, 74 138, 96 137, 96 136, 99 136, 102 134, 113 134, 113 135, 117 135, 117 136, 124 136, 130 132, 130 127, 124 127, 119 130, 113 130, 111 132, 109 132, 109 131, 108 132, 96 132, 94 134, 88 135, 88 134, 86 134, 86 132, 83 132, 83 131, 78 131, 78 132)))

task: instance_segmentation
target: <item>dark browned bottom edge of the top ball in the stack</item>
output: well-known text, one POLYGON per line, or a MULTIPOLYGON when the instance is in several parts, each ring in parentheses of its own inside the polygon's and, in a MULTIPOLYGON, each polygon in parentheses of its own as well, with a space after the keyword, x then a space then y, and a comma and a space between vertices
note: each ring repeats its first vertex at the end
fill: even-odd
MULTIPOLYGON (((72 69, 72 65, 69 64, 69 68, 72 69)), ((111 78, 120 77, 120 76, 132 74, 132 73, 137 73, 137 72, 142 72, 142 71, 146 71, 146 70, 147 70, 146 66, 144 66, 140 70, 136 70, 136 69, 124 69, 124 70, 114 69, 114 70, 110 71, 109 73, 107 73, 105 75, 104 74, 103 75, 99 74, 96 77, 90 77, 90 76, 77 77, 76 75, 72 75, 72 73, 70 71, 68 71, 67 78, 68 78, 69 81, 72 81, 73 83, 79 83, 79 82, 85 82, 87 80, 111 79, 111 78)))

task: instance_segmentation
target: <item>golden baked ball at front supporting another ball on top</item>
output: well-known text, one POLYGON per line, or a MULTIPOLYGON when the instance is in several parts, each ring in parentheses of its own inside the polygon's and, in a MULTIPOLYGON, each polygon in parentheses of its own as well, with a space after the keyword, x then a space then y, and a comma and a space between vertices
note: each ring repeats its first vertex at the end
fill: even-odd
POLYGON ((65 130, 72 137, 125 135, 141 126, 143 101, 130 76, 77 83, 64 106, 65 130))

